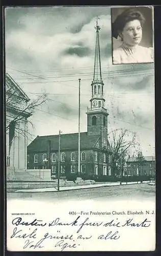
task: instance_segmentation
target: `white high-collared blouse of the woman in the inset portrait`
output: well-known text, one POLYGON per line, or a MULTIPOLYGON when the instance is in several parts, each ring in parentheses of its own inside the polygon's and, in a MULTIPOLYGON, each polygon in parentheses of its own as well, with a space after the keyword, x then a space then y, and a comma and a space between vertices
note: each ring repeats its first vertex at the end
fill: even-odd
POLYGON ((153 48, 137 46, 133 49, 125 48, 123 45, 113 51, 113 63, 146 63, 154 61, 153 48))

